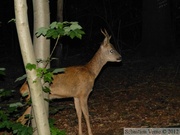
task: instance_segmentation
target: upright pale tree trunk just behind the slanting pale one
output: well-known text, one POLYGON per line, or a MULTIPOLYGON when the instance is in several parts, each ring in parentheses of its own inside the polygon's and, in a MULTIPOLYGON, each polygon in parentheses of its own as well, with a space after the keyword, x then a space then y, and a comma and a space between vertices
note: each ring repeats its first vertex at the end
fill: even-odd
MULTIPOLYGON (((50 40, 47 40, 45 37, 40 36, 36 37, 35 32, 40 27, 48 27, 50 24, 50 12, 49 12, 49 0, 33 0, 33 13, 34 13, 34 37, 33 37, 33 45, 34 51, 37 60, 41 60, 38 63, 38 67, 40 68, 49 68, 50 64, 46 66, 47 60, 49 59, 50 55, 50 40)), ((43 86, 47 86, 48 84, 44 84, 43 79, 41 80, 43 86)), ((44 99, 48 99, 49 94, 43 92, 44 99)), ((45 101, 45 108, 47 117, 49 114, 49 104, 45 101)), ((32 114, 34 115, 34 113, 32 114)), ((32 127, 36 127, 36 122, 32 119, 32 127)), ((34 132, 34 135, 37 135, 37 132, 34 132)))

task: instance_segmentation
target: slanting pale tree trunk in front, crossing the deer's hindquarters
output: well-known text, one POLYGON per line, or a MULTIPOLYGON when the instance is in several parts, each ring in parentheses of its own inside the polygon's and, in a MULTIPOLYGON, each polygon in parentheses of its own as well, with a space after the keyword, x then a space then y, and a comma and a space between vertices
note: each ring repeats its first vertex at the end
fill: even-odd
MULTIPOLYGON (((36 64, 36 58, 32 45, 32 40, 29 31, 27 18, 27 3, 26 0, 14 0, 16 27, 18 38, 23 57, 24 66, 28 63, 36 64)), ((36 70, 27 70, 27 80, 29 83, 32 107, 34 111, 34 119, 37 125, 39 135, 50 135, 47 112, 44 105, 42 94, 42 85, 40 79, 37 78, 36 70)))

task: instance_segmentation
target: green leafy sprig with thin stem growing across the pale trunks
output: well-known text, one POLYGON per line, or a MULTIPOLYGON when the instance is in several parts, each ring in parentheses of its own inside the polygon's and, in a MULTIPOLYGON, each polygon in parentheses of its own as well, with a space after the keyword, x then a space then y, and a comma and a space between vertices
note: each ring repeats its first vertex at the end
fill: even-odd
MULTIPOLYGON (((38 31, 36 32, 36 36, 45 36, 46 38, 53 38, 56 39, 56 44, 51 52, 50 57, 46 61, 48 63, 50 62, 52 53, 58 43, 58 40, 62 36, 69 36, 70 38, 77 37, 79 39, 82 38, 82 35, 85 34, 84 31, 82 30, 82 27, 78 24, 78 22, 52 22, 49 26, 49 28, 42 27, 39 28, 38 31)), ((37 62, 42 62, 42 60, 38 60, 37 62)), ((45 82, 52 82, 52 76, 53 74, 63 72, 64 69, 55 69, 55 70, 47 70, 46 66, 44 68, 37 68, 35 64, 28 63, 26 65, 26 69, 28 70, 36 70, 37 71, 37 77, 43 78, 45 82)), ((18 78, 17 80, 24 79, 24 76, 21 78, 18 78)))

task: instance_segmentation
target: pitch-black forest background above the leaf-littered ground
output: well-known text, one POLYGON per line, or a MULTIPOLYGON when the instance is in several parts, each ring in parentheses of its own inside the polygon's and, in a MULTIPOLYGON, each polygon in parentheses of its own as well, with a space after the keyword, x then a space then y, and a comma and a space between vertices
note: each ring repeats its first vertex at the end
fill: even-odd
MULTIPOLYGON (((56 2, 50 0, 51 22, 56 21, 56 2)), ((32 1, 27 3, 32 32, 32 1)), ((55 53, 61 63, 52 63, 52 67, 86 63, 103 40, 100 29, 104 28, 123 59, 167 57, 180 52, 179 0, 65 0, 63 12, 64 21, 78 21, 86 34, 82 40, 62 38, 63 49, 55 53)), ((0 1, 0 67, 11 65, 19 71, 13 73, 19 75, 23 65, 17 32, 15 24, 8 23, 14 17, 13 0, 0 1)))

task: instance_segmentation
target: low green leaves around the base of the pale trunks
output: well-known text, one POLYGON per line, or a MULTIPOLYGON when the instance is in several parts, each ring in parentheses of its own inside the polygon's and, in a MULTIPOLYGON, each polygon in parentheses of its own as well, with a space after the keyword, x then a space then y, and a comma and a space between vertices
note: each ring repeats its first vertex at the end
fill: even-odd
MULTIPOLYGON (((12 95, 12 91, 4 96, 12 95), (11 93, 11 94, 10 94, 11 93)), ((21 123, 13 121, 12 116, 18 112, 18 108, 22 107, 23 104, 20 102, 11 103, 6 105, 5 109, 0 110, 0 131, 11 133, 13 135, 32 135, 33 128, 28 125, 22 125, 21 123)), ((28 116, 29 117, 29 116, 28 116)), ((66 135, 65 131, 61 131, 55 127, 54 120, 49 120, 51 135, 66 135)))

